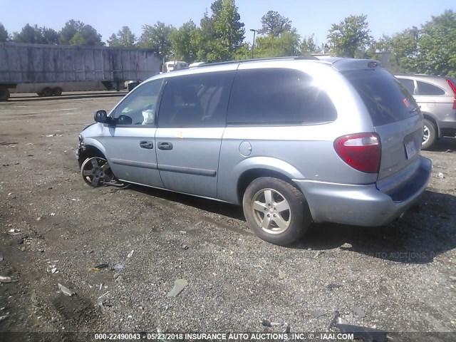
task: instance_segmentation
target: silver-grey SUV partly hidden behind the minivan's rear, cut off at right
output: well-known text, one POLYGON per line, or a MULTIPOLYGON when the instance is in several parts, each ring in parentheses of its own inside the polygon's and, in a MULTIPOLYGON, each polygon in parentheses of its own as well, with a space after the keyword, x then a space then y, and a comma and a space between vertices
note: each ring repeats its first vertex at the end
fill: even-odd
POLYGON ((396 75, 410 91, 425 118, 422 149, 437 138, 456 134, 456 80, 446 76, 396 75))

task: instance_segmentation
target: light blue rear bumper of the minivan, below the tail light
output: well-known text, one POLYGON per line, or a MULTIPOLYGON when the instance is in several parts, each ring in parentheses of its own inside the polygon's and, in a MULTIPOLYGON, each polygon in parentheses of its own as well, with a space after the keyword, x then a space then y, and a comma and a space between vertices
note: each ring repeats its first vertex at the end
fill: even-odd
POLYGON ((420 157, 420 166, 400 189, 389 194, 375 184, 343 185, 294 180, 306 196, 314 222, 335 222, 378 227, 388 224, 407 211, 425 191, 432 162, 420 157))

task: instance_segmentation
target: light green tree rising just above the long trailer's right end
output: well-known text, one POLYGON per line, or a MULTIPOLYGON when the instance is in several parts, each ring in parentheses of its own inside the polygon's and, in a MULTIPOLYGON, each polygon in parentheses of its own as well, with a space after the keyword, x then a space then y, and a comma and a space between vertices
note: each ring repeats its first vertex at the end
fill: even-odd
POLYGON ((174 30, 174 27, 161 21, 153 26, 142 25, 139 45, 143 48, 158 48, 163 58, 169 59, 172 56, 171 33, 174 30))

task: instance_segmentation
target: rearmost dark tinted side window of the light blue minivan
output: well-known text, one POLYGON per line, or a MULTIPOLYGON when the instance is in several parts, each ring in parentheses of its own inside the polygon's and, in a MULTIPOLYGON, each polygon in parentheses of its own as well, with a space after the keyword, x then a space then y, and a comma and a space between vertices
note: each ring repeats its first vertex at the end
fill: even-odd
POLYGON ((267 68, 237 71, 227 123, 280 125, 326 123, 337 112, 324 90, 301 71, 267 68))

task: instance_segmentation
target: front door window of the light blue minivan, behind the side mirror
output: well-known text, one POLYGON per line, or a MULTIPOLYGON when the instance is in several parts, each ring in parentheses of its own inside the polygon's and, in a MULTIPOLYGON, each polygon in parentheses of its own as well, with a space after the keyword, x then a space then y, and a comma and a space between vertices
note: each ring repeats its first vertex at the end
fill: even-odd
POLYGON ((132 90, 115 108, 114 119, 117 125, 155 125, 162 83, 163 80, 151 81, 132 90))

